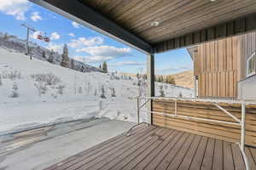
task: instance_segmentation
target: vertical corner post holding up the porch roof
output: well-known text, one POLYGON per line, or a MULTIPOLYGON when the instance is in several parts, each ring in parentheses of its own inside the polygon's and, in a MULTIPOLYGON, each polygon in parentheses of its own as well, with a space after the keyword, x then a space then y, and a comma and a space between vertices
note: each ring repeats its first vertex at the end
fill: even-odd
MULTIPOLYGON (((148 97, 154 97, 154 54, 147 59, 148 97)), ((152 124, 152 102, 148 102, 148 123, 152 124)))

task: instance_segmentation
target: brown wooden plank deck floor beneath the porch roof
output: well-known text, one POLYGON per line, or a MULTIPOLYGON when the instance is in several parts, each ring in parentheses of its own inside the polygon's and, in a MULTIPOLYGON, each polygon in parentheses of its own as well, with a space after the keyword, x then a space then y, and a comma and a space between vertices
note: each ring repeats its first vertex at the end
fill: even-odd
MULTIPOLYGON (((246 148, 252 170, 256 149, 246 148)), ((240 170, 245 169, 236 144, 154 126, 121 134, 69 157, 46 170, 240 170)))

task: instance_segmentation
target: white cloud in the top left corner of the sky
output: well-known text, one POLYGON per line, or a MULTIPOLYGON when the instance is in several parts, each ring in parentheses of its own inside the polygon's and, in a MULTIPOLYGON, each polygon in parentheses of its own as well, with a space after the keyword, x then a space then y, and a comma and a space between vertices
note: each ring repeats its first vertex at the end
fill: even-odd
POLYGON ((0 11, 13 15, 16 20, 26 20, 25 13, 28 8, 27 0, 0 0, 0 11))

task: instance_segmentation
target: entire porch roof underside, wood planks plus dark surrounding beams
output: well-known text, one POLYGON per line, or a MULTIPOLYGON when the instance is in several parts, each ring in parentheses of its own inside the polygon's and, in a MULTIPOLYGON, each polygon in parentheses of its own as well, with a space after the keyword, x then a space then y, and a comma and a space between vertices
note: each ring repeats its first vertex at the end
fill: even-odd
POLYGON ((255 0, 43 1, 145 52, 152 52, 153 47, 158 53, 256 27, 255 0), (152 22, 159 26, 151 26, 152 22))

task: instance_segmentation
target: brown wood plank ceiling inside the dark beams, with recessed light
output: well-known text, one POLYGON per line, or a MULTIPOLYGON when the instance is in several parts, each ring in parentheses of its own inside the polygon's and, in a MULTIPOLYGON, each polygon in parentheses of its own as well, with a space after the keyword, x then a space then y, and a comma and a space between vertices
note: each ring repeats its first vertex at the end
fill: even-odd
POLYGON ((150 44, 256 12, 255 0, 80 1, 150 44))

